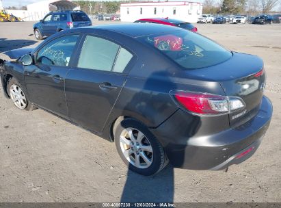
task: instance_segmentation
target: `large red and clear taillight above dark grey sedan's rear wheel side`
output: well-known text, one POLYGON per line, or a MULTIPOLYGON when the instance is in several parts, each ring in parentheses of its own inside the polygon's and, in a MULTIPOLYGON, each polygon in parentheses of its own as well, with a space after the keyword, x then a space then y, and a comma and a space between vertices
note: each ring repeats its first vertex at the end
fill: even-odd
POLYGON ((170 95, 183 109, 202 116, 230 114, 243 109, 245 103, 237 96, 173 90, 170 95))

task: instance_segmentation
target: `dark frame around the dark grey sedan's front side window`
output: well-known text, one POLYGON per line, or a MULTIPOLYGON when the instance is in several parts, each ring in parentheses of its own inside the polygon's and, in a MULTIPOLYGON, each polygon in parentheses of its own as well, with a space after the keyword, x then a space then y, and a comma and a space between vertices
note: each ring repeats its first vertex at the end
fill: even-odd
POLYGON ((40 51, 44 46, 46 46, 46 44, 49 44, 49 42, 52 42, 53 40, 56 40, 58 38, 62 38, 64 36, 75 36, 75 35, 78 35, 79 37, 77 38, 77 42, 75 44, 75 48, 73 49, 73 53, 70 57, 70 61, 68 63, 68 66, 59 66, 59 67, 68 67, 68 68, 71 68, 73 66, 73 62, 75 60, 75 54, 76 54, 76 51, 79 47, 79 44, 81 43, 81 38, 83 35, 81 35, 81 33, 69 33, 69 34, 63 34, 62 36, 57 36, 55 38, 52 38, 50 40, 48 40, 46 43, 42 44, 42 46, 40 46, 39 49, 37 49, 37 51, 35 51, 33 54, 32 54, 32 57, 34 59, 34 66, 56 66, 56 65, 46 65, 46 64, 36 64, 36 58, 37 58, 37 55, 38 55, 38 51, 40 51))

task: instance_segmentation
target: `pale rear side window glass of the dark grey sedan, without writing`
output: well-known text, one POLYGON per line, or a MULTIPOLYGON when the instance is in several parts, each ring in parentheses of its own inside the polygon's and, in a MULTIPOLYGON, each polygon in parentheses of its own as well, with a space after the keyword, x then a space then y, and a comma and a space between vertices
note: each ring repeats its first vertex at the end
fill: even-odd
POLYGON ((133 55, 118 44, 87 36, 79 57, 78 67, 122 73, 133 55))

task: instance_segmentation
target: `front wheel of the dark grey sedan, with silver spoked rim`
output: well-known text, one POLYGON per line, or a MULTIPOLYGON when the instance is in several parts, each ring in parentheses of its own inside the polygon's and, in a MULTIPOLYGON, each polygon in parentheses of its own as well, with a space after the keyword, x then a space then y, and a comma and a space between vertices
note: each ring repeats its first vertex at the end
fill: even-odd
POLYGON ((8 82, 7 92, 12 99, 14 105, 18 109, 24 109, 24 110, 33 110, 36 109, 34 105, 32 105, 26 96, 26 93, 23 91, 23 88, 21 88, 21 85, 16 81, 16 79, 12 78, 8 82))

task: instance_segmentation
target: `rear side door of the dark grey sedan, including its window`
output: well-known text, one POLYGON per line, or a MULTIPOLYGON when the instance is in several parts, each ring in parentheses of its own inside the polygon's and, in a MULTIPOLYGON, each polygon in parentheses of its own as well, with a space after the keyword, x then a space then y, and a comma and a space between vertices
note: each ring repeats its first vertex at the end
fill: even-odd
POLYGON ((72 122, 101 132, 135 57, 116 42, 85 36, 77 67, 66 77, 66 101, 72 122))

